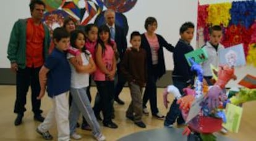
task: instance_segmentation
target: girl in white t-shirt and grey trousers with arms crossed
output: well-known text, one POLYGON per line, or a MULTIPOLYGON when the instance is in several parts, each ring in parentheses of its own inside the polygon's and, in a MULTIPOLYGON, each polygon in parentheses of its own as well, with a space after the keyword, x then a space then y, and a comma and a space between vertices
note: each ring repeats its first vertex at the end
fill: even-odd
POLYGON ((85 49, 85 34, 83 31, 75 30, 70 33, 70 45, 80 50, 82 58, 82 65, 79 65, 75 62, 74 55, 67 54, 71 66, 70 92, 73 97, 69 114, 70 136, 73 139, 81 139, 81 135, 75 132, 76 123, 81 112, 92 127, 93 136, 97 140, 105 140, 86 93, 89 85, 89 75, 96 70, 96 66, 92 55, 85 49))

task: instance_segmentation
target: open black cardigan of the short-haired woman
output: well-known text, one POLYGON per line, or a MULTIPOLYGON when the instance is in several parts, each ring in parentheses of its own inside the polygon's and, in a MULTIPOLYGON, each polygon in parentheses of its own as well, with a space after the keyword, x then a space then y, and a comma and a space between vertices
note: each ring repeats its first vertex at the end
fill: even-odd
MULTIPOLYGON (((161 76, 164 75, 166 69, 165 69, 165 63, 164 63, 164 55, 163 55, 163 47, 165 47, 169 52, 173 52, 174 46, 169 44, 160 34, 156 34, 158 38, 158 42, 160 45, 160 48, 158 49, 158 78, 161 78, 161 76)), ((148 40, 145 36, 145 34, 142 34, 142 44, 141 47, 146 50, 147 52, 147 70, 148 75, 151 75, 152 72, 152 54, 150 49, 150 44, 148 43, 148 40)))

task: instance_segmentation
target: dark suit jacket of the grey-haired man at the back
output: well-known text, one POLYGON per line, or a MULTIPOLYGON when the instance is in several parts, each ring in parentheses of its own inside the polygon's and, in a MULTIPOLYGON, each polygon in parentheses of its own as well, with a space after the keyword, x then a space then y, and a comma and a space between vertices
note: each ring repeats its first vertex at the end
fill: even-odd
POLYGON ((114 41, 116 42, 117 50, 119 53, 119 57, 122 60, 122 57, 124 56, 124 52, 126 52, 127 49, 127 40, 126 35, 124 34, 124 30, 118 25, 115 26, 115 37, 114 41))

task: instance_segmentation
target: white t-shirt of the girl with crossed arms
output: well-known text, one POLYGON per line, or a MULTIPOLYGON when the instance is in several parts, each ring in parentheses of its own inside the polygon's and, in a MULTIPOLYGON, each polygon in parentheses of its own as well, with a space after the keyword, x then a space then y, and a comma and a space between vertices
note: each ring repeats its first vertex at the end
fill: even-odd
MULTIPOLYGON (((87 51, 87 54, 90 54, 90 52, 87 51)), ((85 53, 81 53, 80 54, 82 57, 82 62, 83 65, 88 65, 89 63, 89 59, 92 57, 92 55, 85 55, 85 53)), ((67 54, 67 59, 75 57, 72 54, 67 54)), ((70 64, 70 68, 71 68, 71 86, 72 88, 75 89, 80 89, 82 87, 88 87, 89 86, 89 75, 88 73, 77 73, 77 71, 75 71, 75 67, 70 64)))

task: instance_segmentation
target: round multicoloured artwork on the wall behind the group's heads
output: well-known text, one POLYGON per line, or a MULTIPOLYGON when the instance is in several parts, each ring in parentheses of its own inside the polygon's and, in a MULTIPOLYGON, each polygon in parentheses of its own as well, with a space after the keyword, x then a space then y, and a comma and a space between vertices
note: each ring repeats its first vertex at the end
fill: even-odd
POLYGON ((51 31, 62 26, 66 17, 73 18, 78 26, 92 22, 102 25, 105 23, 103 9, 113 9, 116 12, 116 24, 127 34, 127 19, 122 13, 131 10, 137 0, 43 0, 43 2, 46 4, 44 22, 51 31))

